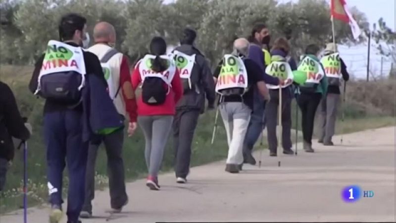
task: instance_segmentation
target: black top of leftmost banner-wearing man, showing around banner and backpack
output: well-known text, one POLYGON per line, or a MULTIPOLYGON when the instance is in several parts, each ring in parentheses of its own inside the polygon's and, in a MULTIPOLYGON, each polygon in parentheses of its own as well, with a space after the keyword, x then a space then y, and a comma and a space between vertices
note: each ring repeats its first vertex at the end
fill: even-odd
MULTIPOLYGON (((67 44, 69 44, 73 47, 78 46, 75 43, 67 43, 67 44)), ((39 79, 41 67, 43 65, 44 56, 45 56, 45 54, 40 56, 40 58, 37 60, 37 62, 35 64, 35 69, 33 71, 32 79, 30 80, 30 83, 29 83, 29 89, 32 93, 35 93, 36 89, 37 89, 38 79, 39 79)), ((100 65, 98 56, 96 56, 95 54, 93 54, 91 52, 84 51, 84 50, 83 50, 83 56, 84 56, 86 73, 88 75, 92 75, 92 74, 98 75, 98 77, 103 81, 103 83, 107 87, 107 82, 104 79, 104 74, 103 74, 102 67, 100 65)), ((44 112, 64 111, 64 110, 69 109, 68 106, 69 105, 64 105, 64 104, 61 104, 58 102, 46 100, 46 104, 44 105, 44 112)), ((80 111, 82 111, 82 109, 83 109, 82 105, 77 106, 75 108, 75 110, 80 110, 80 111)))

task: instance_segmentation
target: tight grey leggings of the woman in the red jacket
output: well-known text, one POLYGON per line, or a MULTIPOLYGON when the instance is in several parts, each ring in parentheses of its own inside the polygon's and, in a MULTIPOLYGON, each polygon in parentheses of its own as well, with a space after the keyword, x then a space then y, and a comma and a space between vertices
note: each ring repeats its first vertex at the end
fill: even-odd
POLYGON ((138 123, 146 139, 145 157, 148 174, 156 177, 161 167, 165 145, 172 128, 173 116, 139 116, 138 123))

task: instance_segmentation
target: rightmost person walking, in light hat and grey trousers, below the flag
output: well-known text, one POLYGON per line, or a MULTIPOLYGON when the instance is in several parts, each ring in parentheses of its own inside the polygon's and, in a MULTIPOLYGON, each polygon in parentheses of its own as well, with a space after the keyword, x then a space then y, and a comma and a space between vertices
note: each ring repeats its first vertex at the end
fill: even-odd
POLYGON ((325 69, 329 87, 327 95, 322 98, 320 104, 319 116, 321 131, 318 142, 323 143, 325 146, 333 146, 332 137, 336 128, 337 110, 340 104, 341 80, 344 79, 344 81, 347 82, 349 80, 349 73, 344 60, 338 53, 337 45, 334 43, 326 45, 324 56, 320 62, 325 69))

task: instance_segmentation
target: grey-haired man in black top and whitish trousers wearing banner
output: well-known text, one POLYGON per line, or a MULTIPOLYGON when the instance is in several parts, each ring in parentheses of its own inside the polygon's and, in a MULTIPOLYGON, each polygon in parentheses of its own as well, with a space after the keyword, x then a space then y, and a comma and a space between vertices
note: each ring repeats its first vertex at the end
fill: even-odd
POLYGON ((248 49, 246 39, 235 40, 232 54, 225 55, 214 72, 229 147, 225 170, 231 173, 238 173, 244 163, 243 142, 253 108, 253 86, 256 85, 261 96, 269 100, 263 70, 247 58, 248 49))

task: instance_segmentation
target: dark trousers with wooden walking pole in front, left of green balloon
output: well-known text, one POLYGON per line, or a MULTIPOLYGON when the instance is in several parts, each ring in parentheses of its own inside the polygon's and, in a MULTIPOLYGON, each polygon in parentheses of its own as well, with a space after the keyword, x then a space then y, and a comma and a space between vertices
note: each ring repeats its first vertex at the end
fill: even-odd
MULTIPOLYGON (((265 106, 265 119, 267 124, 267 139, 269 150, 276 153, 278 139, 276 126, 278 120, 279 90, 269 90, 271 100, 265 106)), ((282 89, 282 146, 284 150, 292 148, 292 95, 289 88, 282 89)))

